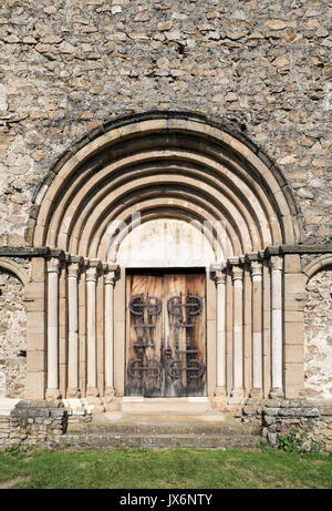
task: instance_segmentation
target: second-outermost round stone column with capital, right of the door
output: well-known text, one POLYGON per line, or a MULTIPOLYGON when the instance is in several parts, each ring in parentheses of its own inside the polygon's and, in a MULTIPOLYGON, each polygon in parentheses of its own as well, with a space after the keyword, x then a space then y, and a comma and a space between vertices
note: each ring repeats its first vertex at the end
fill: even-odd
POLYGON ((250 397, 262 397, 262 265, 251 263, 252 282, 252 388, 250 397))

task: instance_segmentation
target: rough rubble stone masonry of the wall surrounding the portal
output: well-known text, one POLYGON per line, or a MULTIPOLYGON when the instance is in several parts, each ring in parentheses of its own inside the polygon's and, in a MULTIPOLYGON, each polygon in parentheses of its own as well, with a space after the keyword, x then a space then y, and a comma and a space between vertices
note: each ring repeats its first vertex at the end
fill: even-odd
MULTIPOLYGON (((38 186, 77 139, 106 119, 158 110, 199 112, 256 143, 319 254, 332 239, 331 24, 328 0, 2 1, 0 247, 29 245, 38 186)), ((315 257, 303 254, 302 269, 315 257)), ((11 260, 31 272, 29 258, 11 260)), ((293 347, 307 397, 324 400, 331 285, 329 266, 309 279, 304 346, 293 347)), ((23 299, 17 274, 0 266, 0 396, 24 386, 23 299)))

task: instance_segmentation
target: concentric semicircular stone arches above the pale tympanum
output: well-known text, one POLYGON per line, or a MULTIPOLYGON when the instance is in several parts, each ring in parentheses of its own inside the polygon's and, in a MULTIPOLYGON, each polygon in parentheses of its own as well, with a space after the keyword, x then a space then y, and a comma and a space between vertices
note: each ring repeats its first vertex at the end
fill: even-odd
POLYGON ((301 241, 297 206, 277 166, 241 135, 180 112, 112 121, 82 140, 35 194, 28 238, 105 260, 105 226, 149 202, 156 209, 158 197, 160 207, 175 200, 188 219, 196 212, 225 222, 228 256, 301 241))

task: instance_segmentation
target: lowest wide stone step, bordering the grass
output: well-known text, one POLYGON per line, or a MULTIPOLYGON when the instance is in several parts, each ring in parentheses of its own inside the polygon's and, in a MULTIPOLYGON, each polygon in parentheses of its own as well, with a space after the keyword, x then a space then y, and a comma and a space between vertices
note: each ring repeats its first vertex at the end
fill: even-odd
POLYGON ((58 437, 59 446, 74 448, 106 449, 116 448, 198 448, 231 449, 253 448, 261 437, 253 435, 132 435, 132 433, 66 433, 58 437))

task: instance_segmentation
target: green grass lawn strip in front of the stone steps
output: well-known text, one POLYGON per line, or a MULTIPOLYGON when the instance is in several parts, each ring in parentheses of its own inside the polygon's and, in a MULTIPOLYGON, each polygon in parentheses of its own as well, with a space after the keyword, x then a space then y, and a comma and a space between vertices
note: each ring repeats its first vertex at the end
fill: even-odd
POLYGON ((0 452, 0 488, 332 488, 332 454, 272 449, 0 452), (7 482, 6 481, 10 481, 7 482))

